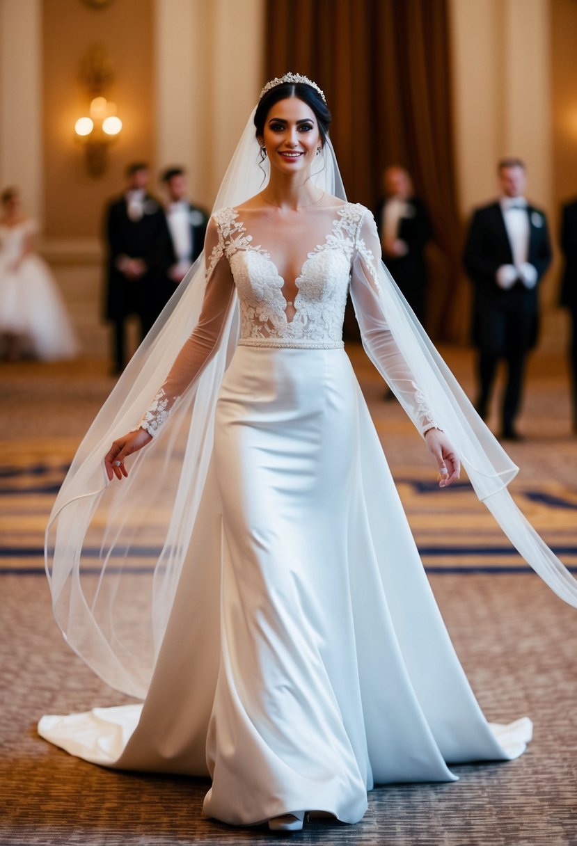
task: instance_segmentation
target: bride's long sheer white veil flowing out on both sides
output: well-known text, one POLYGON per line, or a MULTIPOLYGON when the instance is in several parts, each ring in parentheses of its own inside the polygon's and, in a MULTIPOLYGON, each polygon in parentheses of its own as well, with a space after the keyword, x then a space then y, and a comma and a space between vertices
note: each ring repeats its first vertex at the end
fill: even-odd
MULTIPOLYGON (((253 118, 254 112, 214 210, 238 205, 267 183, 269 165, 261 162, 253 118)), ((313 171, 314 184, 346 199, 330 142, 313 171)), ((236 299, 217 353, 150 446, 128 459, 129 478, 109 483, 103 457, 115 438, 138 423, 193 331, 205 277, 201 254, 80 443, 47 526, 52 607, 65 639, 108 684, 137 697, 146 695, 184 560, 194 567, 195 557, 205 554, 191 548, 190 536, 203 519, 199 508, 210 478, 217 396, 238 343, 236 299)), ((415 383, 426 392, 435 420, 459 452, 477 495, 541 578, 577 607, 577 582, 508 494, 506 486, 517 468, 475 414, 384 265, 380 277, 378 315, 361 327, 367 353, 404 402, 395 373, 387 371, 380 355, 379 338, 386 326, 415 383)), ((367 291, 368 286, 367 280, 367 291)))

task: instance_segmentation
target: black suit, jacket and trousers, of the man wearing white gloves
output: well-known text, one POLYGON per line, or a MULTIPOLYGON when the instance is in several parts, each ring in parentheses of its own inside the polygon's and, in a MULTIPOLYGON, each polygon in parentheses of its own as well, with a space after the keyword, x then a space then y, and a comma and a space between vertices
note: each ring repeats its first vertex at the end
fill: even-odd
POLYGON ((473 339, 479 348, 480 380, 477 407, 485 416, 497 364, 504 358, 508 365, 502 410, 504 433, 513 430, 519 411, 525 360, 537 339, 538 283, 551 262, 547 218, 530 205, 526 213, 529 216, 527 261, 537 272, 534 288, 526 288, 520 277, 507 290, 497 284, 498 268, 514 263, 500 203, 475 211, 464 250, 464 266, 475 288, 473 339))

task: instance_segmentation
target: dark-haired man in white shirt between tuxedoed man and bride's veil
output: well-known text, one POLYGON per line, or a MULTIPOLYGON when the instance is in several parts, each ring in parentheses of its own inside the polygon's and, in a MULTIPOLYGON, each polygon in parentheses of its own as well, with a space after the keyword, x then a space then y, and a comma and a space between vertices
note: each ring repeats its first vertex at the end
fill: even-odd
POLYGON ((165 212, 176 257, 175 263, 168 268, 168 301, 174 293, 174 288, 184 279, 190 265, 201 255, 208 215, 204 209, 193 206, 190 202, 184 168, 165 170, 162 173, 162 183, 167 193, 165 212))

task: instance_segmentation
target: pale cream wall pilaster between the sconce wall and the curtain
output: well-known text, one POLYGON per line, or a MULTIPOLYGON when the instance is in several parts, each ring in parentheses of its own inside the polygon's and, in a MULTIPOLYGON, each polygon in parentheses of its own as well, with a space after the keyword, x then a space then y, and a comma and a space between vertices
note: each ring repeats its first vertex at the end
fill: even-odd
POLYGON ((155 8, 158 160, 184 164, 191 195, 211 208, 261 91, 265 0, 155 8))

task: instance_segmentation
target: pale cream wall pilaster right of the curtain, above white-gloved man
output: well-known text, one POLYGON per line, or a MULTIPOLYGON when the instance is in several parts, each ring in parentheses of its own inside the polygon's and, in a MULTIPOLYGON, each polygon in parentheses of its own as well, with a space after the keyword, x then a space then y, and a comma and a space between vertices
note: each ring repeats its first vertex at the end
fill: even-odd
POLYGON ((552 206, 549 0, 450 0, 459 203, 496 195, 495 165, 519 156, 528 194, 552 206))

